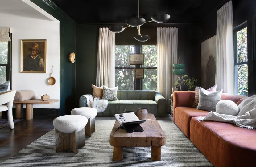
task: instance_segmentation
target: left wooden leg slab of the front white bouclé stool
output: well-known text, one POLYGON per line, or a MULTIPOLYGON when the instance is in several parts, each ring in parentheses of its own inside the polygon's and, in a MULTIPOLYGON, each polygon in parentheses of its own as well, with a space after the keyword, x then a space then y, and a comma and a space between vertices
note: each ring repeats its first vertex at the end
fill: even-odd
POLYGON ((65 151, 70 149, 69 134, 55 129, 55 151, 65 151))

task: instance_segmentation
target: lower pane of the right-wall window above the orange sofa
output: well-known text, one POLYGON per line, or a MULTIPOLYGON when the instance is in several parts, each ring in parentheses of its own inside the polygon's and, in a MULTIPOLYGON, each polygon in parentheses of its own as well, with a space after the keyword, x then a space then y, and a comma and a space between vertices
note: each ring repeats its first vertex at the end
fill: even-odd
POLYGON ((235 88, 236 94, 242 96, 248 96, 248 68, 247 64, 235 66, 235 88))

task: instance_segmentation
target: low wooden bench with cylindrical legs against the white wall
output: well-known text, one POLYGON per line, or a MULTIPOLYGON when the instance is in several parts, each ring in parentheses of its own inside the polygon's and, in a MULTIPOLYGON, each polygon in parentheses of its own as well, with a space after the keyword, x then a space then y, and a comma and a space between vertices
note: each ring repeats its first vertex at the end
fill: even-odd
POLYGON ((16 103, 16 119, 22 118, 23 115, 23 104, 26 104, 26 120, 33 119, 33 104, 52 104, 60 100, 51 99, 48 101, 43 101, 41 99, 31 99, 24 101, 14 101, 16 103))

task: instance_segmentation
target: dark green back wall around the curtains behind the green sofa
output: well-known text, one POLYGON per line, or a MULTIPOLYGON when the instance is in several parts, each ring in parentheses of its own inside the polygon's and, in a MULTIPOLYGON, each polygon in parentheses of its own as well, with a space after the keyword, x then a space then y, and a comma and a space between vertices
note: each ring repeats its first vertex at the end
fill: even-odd
MULTIPOLYGON (((175 26, 175 25, 172 25, 175 26)), ((200 35, 199 26, 180 24, 178 27, 178 56, 180 63, 185 63, 186 74, 198 79, 200 86, 200 35)), ((76 107, 83 94, 92 94, 91 84, 96 84, 97 48, 99 27, 106 25, 77 25, 76 29, 76 107)), ((165 26, 166 27, 166 26, 165 26)), ((142 26, 141 33, 150 35, 149 41, 143 43, 134 39, 135 28, 128 28, 115 35, 118 45, 156 45, 157 27, 142 26)))

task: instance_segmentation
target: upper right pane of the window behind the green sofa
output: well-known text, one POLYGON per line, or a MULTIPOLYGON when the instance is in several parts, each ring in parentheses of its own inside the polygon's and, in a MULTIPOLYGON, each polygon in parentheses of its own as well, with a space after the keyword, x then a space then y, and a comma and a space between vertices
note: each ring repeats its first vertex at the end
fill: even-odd
POLYGON ((144 53, 143 67, 156 67, 156 45, 142 45, 144 53))

